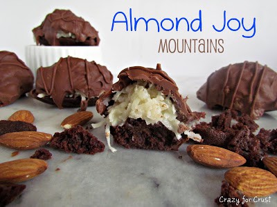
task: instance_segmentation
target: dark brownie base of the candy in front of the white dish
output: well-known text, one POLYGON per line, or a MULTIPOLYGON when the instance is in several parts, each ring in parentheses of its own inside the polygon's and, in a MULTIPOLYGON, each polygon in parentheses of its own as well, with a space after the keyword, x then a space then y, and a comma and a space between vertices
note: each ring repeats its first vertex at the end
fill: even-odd
MULTIPOLYGON (((37 97, 37 93, 35 92, 35 90, 32 90, 30 92, 30 96, 44 103, 56 105, 50 96, 46 96, 43 98, 37 97)), ((95 106, 97 100, 98 98, 89 99, 88 106, 95 106)), ((62 107, 64 108, 78 108, 80 106, 81 106, 81 97, 76 97, 76 98, 64 97, 64 101, 62 102, 62 107)))

